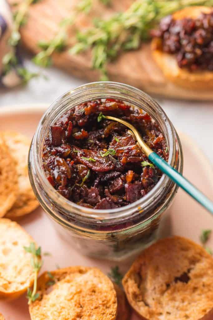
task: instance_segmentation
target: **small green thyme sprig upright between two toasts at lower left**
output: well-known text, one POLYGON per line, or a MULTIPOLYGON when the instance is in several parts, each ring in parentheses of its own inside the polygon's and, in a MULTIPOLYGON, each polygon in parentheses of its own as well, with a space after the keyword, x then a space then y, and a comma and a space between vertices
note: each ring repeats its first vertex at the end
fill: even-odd
POLYGON ((24 250, 32 254, 30 263, 34 271, 33 291, 31 291, 30 288, 27 289, 28 304, 30 304, 31 302, 34 302, 36 299, 39 298, 39 293, 37 293, 36 290, 38 272, 42 267, 41 247, 36 249, 34 242, 31 242, 29 247, 24 247, 24 250))

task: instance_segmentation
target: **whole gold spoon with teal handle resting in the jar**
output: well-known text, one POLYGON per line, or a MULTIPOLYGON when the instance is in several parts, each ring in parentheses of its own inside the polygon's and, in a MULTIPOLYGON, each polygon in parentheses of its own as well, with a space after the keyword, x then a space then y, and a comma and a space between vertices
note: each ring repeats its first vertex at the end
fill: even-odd
POLYGON ((184 178, 177 170, 175 170, 170 164, 168 164, 164 159, 158 156, 155 152, 148 147, 148 145, 141 138, 138 130, 130 123, 125 120, 105 116, 106 119, 114 120, 126 125, 133 132, 138 144, 144 151, 148 159, 156 165, 162 172, 164 172, 172 181, 174 181, 179 187, 185 190, 191 197, 193 197, 197 202, 199 202, 204 208, 213 214, 213 202, 207 198, 200 190, 198 190, 191 182, 184 178))

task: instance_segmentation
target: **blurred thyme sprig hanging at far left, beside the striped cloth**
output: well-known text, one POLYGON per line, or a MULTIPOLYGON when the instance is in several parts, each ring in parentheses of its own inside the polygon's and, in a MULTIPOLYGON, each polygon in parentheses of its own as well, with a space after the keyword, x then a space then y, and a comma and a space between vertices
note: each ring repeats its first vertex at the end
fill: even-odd
MULTIPOLYGON (((8 44, 11 46, 11 50, 6 53, 2 59, 3 64, 3 74, 7 74, 12 67, 18 65, 18 59, 16 57, 16 47, 19 44, 21 39, 21 35, 19 29, 23 26, 27 21, 27 12, 29 6, 31 4, 35 4, 38 0, 25 0, 20 4, 19 9, 13 15, 13 31, 11 36, 8 39, 8 44)), ((35 76, 38 76, 36 73, 31 73, 25 68, 18 68, 17 69, 19 75, 23 79, 23 83, 27 83, 30 79, 35 76)))

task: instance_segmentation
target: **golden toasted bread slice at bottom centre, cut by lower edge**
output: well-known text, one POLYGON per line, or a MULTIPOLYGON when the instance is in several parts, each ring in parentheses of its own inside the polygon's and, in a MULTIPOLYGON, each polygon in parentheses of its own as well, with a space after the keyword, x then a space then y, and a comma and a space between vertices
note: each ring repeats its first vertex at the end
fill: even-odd
POLYGON ((43 273, 32 320, 115 320, 117 297, 111 280, 97 268, 70 267, 43 273), (55 284, 53 284, 55 282, 55 284))

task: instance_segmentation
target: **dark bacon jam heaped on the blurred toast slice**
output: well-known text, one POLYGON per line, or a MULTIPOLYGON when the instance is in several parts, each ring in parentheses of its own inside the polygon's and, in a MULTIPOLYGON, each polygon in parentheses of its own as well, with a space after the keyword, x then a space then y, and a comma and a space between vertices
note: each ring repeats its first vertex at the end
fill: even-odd
POLYGON ((213 10, 197 19, 167 16, 151 36, 159 38, 156 49, 176 55, 179 68, 213 71, 213 10))

